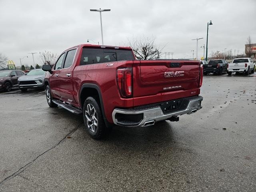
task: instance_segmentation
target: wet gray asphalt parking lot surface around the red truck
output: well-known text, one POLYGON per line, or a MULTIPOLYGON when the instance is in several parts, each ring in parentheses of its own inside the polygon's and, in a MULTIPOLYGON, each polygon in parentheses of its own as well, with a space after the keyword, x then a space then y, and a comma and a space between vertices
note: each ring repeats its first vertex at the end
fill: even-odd
POLYGON ((0 92, 0 191, 256 191, 256 73, 204 76, 203 108, 104 140, 42 90, 0 92))

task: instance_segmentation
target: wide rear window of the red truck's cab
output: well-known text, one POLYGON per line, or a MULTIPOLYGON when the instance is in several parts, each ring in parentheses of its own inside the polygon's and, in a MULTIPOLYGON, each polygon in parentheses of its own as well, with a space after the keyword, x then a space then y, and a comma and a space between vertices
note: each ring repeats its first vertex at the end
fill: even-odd
POLYGON ((83 48, 80 65, 134 60, 132 50, 83 48))

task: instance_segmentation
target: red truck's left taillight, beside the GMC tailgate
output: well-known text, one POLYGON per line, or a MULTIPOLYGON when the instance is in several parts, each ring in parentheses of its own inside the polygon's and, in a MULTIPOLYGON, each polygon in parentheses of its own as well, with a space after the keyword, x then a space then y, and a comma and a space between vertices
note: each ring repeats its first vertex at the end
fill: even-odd
POLYGON ((122 97, 132 97, 132 68, 122 68, 116 71, 116 81, 122 97))

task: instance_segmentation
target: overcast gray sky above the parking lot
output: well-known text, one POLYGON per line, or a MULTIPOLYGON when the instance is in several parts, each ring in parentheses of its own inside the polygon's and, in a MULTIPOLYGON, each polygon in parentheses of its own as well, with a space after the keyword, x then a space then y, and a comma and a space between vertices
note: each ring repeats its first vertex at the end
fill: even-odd
MULTIPOLYGON (((132 36, 154 36, 163 52, 174 58, 192 58, 198 42, 203 56, 209 26, 208 52, 227 48, 244 52, 250 35, 256 43, 256 0, 0 0, 0 52, 16 66, 32 64, 29 52, 44 50, 60 54, 87 39, 101 42, 102 13, 104 44, 122 45, 132 36)), ((93 43, 92 43, 93 44, 93 43)), ((35 62, 39 54, 35 54, 35 62)), ((164 56, 163 56, 164 57, 164 56)))

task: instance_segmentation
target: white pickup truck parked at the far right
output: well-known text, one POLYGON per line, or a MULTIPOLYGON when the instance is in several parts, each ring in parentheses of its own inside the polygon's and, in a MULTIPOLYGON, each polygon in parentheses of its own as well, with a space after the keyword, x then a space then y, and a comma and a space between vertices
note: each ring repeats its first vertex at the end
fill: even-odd
POLYGON ((250 74, 254 72, 255 63, 251 58, 236 58, 232 63, 228 64, 227 73, 231 75, 232 72, 250 74))

